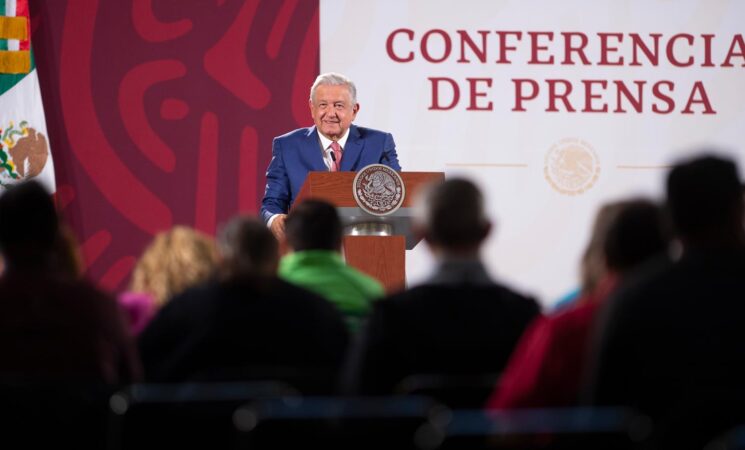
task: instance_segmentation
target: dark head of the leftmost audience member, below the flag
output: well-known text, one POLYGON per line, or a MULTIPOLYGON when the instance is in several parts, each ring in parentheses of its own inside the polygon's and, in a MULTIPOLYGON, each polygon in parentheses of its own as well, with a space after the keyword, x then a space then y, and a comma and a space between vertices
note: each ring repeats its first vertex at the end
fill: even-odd
POLYGON ((0 252, 8 268, 49 266, 59 239, 57 211, 41 184, 26 181, 0 195, 0 252))

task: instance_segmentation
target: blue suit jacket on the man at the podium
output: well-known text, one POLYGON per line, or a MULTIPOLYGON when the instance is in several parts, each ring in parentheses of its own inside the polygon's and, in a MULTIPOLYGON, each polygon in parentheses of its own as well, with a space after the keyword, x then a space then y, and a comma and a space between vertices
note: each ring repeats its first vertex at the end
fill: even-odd
MULTIPOLYGON (((349 127, 341 170, 355 171, 376 163, 401 170, 393 136, 370 128, 349 127)), ((328 171, 315 126, 274 138, 272 160, 266 170, 264 199, 261 201, 261 218, 264 222, 274 214, 287 213, 308 172, 313 171, 328 171)))

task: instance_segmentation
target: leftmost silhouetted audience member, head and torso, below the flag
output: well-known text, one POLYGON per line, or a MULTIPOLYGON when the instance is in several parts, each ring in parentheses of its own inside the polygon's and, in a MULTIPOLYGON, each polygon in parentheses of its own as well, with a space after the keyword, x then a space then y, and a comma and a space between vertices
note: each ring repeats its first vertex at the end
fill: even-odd
POLYGON ((34 182, 0 196, 0 373, 4 379, 123 383, 139 362, 116 302, 75 276, 50 195, 34 182))

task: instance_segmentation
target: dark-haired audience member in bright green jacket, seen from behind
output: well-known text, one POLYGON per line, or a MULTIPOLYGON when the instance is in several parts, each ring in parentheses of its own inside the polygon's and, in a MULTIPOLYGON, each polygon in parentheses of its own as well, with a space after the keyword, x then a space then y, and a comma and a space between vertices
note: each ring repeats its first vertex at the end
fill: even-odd
POLYGON ((384 291, 379 281, 344 263, 336 208, 321 200, 295 205, 285 221, 285 236, 292 253, 280 261, 280 277, 328 299, 356 332, 384 291))

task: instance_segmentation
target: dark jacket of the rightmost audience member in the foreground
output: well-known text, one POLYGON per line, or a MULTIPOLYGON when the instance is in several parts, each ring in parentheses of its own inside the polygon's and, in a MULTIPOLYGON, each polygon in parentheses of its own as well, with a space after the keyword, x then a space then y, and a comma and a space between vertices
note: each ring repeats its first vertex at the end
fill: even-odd
POLYGON ((657 261, 606 307, 591 403, 650 415, 667 448, 703 448, 745 420, 745 250, 657 261))

